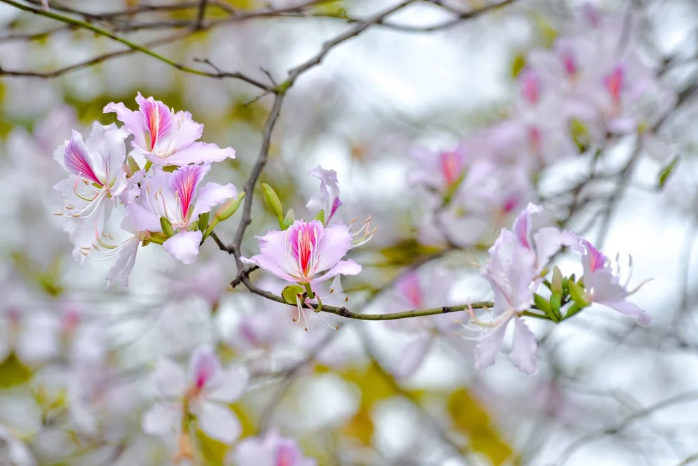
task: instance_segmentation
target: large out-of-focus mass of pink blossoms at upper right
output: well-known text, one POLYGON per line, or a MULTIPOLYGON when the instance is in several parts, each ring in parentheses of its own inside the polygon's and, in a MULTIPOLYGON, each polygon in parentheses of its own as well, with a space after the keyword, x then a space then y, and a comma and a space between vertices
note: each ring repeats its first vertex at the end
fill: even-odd
POLYGON ((634 14, 582 8, 551 47, 519 57, 519 99, 505 119, 454 149, 413 149, 418 168, 410 181, 431 193, 424 241, 472 246, 487 239, 535 202, 543 170, 608 137, 639 135, 651 156, 669 156, 654 129, 676 105, 676 93, 639 46, 638 22, 634 14))

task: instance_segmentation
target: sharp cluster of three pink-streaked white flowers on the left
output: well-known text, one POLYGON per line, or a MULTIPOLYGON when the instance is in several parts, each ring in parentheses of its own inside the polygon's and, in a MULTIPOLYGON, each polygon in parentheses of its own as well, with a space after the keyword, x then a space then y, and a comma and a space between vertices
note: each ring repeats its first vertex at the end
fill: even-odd
POLYGON ((138 246, 162 244, 172 257, 191 264, 199 245, 214 223, 225 220, 237 207, 237 189, 231 183, 200 187, 211 163, 235 158, 233 149, 198 142, 203 125, 189 112, 174 112, 154 98, 138 93, 139 110, 110 103, 104 112, 116 112, 124 123, 103 126, 95 122, 83 140, 73 131, 54 154, 68 172, 55 188, 62 197, 64 228, 73 242, 73 257, 110 259, 116 263, 107 285, 128 284, 138 246), (131 152, 126 139, 133 136, 131 152), (112 212, 119 209, 119 240, 110 231, 112 212))

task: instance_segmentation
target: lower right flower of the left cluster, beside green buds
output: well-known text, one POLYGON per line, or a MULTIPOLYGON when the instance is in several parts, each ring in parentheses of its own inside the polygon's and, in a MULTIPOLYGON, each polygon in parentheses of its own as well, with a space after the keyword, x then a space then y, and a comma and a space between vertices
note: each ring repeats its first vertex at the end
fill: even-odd
MULTIPOLYGON (((237 198, 237 189, 232 183, 225 186, 207 183, 197 189, 210 169, 210 165, 185 165, 172 173, 154 169, 143 180, 141 195, 128 205, 128 213, 138 231, 156 231, 168 236, 163 247, 184 264, 193 263, 199 254, 200 214, 237 198), (160 226, 152 230, 154 225, 160 226), (172 230, 163 231, 163 225, 169 225, 172 230)), ((169 230, 167 226, 164 229, 169 230)))

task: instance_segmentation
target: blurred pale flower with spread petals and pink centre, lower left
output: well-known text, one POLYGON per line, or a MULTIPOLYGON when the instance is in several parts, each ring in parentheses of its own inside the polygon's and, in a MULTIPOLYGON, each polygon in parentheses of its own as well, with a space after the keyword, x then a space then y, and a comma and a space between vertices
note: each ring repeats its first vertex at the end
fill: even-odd
POLYGON ((199 428, 209 437, 226 444, 235 442, 242 427, 228 405, 245 393, 248 375, 239 367, 221 368, 213 349, 199 347, 191 355, 188 375, 169 359, 158 361, 153 379, 156 403, 141 419, 145 433, 180 435, 182 416, 195 416, 199 428))

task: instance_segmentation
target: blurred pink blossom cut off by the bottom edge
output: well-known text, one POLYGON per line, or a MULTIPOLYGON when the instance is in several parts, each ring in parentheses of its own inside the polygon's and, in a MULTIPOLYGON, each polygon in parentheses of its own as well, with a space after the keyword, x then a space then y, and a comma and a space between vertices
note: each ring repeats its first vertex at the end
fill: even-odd
POLYGON ((295 439, 281 437, 271 430, 264 437, 247 437, 232 456, 235 466, 315 466, 314 458, 306 458, 295 439))

